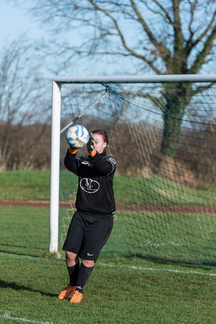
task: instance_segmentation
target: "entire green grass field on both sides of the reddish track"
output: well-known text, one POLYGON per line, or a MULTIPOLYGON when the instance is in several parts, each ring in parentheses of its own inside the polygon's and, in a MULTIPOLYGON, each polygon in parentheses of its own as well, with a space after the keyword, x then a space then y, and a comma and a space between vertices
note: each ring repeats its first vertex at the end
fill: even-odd
MULTIPOLYGON (((214 188, 194 190, 155 178, 115 178, 119 204, 215 201, 214 188)), ((68 192, 71 177, 64 175, 61 182, 61 195, 73 197, 68 192)), ((0 201, 49 200, 48 171, 1 172, 0 183, 0 201)), ((64 212, 62 220, 69 225, 68 211, 64 212)), ((215 323, 216 268, 156 258, 181 255, 186 260, 191 256, 205 260, 207 256, 214 261, 213 215, 119 210, 115 216, 112 235, 85 286, 84 299, 71 305, 57 298, 68 284, 68 272, 63 251, 61 257, 48 252, 49 209, 0 207, 0 323, 215 323), (141 246, 147 238, 157 238, 158 243, 181 239, 184 246, 141 246)))

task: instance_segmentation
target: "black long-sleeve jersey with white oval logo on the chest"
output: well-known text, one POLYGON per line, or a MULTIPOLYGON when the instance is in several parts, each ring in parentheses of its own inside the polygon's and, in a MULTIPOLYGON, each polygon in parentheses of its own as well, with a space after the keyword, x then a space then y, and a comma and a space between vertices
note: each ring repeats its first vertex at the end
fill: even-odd
POLYGON ((76 156, 67 150, 65 167, 79 177, 76 209, 101 216, 115 214, 113 177, 116 160, 112 156, 96 153, 95 156, 76 156))

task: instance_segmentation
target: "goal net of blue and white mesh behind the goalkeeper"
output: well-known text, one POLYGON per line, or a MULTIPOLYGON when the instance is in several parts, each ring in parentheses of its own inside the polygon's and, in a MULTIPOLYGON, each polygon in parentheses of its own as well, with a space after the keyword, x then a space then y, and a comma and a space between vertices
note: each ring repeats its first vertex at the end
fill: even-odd
MULTIPOLYGON (((216 265, 215 80, 216 75, 54 79, 57 164, 58 152, 57 162, 53 154, 61 136, 60 170, 51 162, 51 223, 59 225, 59 249, 76 210, 78 180, 64 167, 65 132, 80 124, 89 132, 105 130, 108 154, 117 160, 117 212, 101 255, 216 265)), ((77 154, 88 155, 86 147, 77 154)))

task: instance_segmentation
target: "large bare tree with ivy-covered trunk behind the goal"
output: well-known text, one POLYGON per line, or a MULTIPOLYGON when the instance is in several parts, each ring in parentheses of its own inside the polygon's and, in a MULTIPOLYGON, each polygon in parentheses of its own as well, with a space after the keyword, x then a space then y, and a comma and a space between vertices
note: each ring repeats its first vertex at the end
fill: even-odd
MULTIPOLYGON (((155 74, 197 74, 214 62, 215 0, 35 0, 31 11, 55 35, 85 32, 79 45, 55 42, 65 64, 74 55, 109 55, 133 59, 139 72, 148 67, 155 74)), ((194 90, 186 91, 182 84, 165 87, 162 154, 175 155, 192 95, 194 90)))

